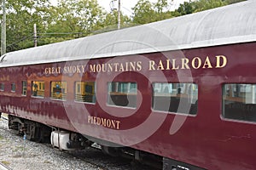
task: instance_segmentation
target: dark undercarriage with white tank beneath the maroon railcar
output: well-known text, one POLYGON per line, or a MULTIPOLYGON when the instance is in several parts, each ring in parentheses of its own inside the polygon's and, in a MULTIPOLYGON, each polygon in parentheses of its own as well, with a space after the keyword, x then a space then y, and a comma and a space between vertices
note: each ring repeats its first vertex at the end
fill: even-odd
POLYGON ((94 139, 56 127, 48 127, 42 123, 17 116, 9 115, 9 129, 14 130, 17 135, 24 136, 26 139, 41 143, 51 143, 53 147, 60 150, 83 150, 86 147, 94 147, 102 150, 108 156, 122 156, 131 159, 134 163, 138 162, 156 169, 162 169, 162 156, 124 146, 110 147, 108 142, 101 139, 94 139))

